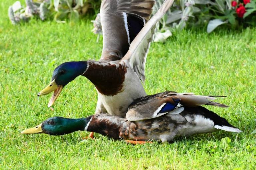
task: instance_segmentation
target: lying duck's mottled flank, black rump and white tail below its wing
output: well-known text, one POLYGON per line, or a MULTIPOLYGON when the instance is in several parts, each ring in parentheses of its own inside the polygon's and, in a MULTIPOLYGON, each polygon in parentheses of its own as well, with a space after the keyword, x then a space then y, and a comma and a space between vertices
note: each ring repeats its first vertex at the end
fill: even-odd
POLYGON ((163 116, 132 121, 125 138, 141 141, 169 142, 179 136, 212 133, 218 129, 241 132, 228 121, 204 107, 186 107, 180 114, 167 113, 163 116), (128 133, 129 132, 129 133, 128 133))

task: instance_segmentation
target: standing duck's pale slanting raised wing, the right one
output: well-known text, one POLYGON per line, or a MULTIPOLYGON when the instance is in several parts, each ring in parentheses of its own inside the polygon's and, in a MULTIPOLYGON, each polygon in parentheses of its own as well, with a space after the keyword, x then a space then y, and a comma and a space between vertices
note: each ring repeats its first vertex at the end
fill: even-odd
POLYGON ((171 7, 174 0, 165 0, 163 5, 157 11, 157 13, 146 23, 139 34, 135 37, 130 45, 130 48, 122 60, 129 60, 130 66, 137 73, 142 82, 145 80, 145 63, 150 46, 150 42, 153 39, 155 32, 155 25, 160 18, 171 7))

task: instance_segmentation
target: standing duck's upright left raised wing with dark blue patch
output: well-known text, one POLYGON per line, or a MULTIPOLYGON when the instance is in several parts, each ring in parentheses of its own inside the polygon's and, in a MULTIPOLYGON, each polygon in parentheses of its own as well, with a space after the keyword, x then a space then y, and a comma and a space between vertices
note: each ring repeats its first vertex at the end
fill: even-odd
POLYGON ((154 0, 103 0, 101 60, 119 60, 150 18, 154 0))

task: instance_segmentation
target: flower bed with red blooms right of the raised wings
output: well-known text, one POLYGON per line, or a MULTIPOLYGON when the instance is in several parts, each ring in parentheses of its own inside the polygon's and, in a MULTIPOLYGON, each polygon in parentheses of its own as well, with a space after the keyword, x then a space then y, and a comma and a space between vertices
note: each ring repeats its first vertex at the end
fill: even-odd
MULTIPOLYGON (((156 0, 156 12, 164 0, 156 0)), ((205 27, 212 32, 220 25, 229 27, 255 26, 256 0, 177 0, 160 20, 157 27, 156 41, 171 36, 168 30, 182 30, 185 27, 205 27), (159 33, 161 34, 160 37, 159 33)))

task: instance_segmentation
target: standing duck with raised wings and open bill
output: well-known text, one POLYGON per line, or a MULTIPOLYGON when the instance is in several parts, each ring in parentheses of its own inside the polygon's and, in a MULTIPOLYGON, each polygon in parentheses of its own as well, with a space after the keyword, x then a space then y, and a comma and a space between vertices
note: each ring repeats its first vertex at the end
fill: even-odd
POLYGON ((99 61, 66 62, 55 68, 50 84, 38 96, 53 92, 52 106, 63 87, 82 75, 96 87, 95 113, 124 117, 128 106, 145 96, 144 68, 154 27, 173 0, 165 0, 149 20, 154 0, 103 0, 100 9, 103 51, 99 61))

